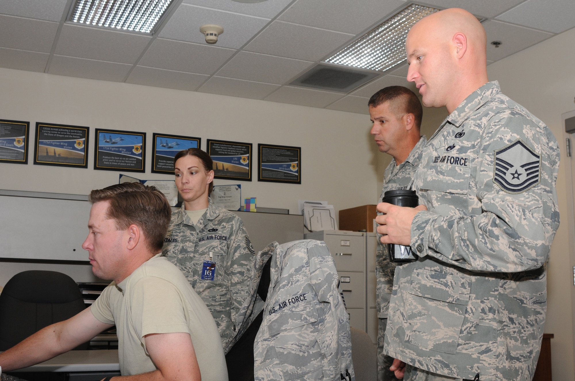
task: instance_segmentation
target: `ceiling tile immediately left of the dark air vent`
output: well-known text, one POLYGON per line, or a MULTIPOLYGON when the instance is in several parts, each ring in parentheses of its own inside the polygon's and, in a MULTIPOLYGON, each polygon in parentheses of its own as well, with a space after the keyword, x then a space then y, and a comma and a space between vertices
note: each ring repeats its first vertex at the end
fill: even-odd
POLYGON ((218 76, 246 79, 265 83, 284 84, 313 62, 239 52, 220 71, 218 76))

